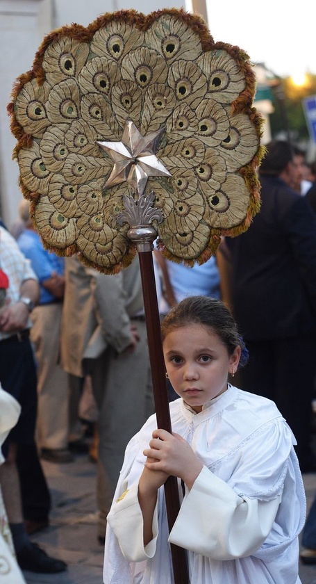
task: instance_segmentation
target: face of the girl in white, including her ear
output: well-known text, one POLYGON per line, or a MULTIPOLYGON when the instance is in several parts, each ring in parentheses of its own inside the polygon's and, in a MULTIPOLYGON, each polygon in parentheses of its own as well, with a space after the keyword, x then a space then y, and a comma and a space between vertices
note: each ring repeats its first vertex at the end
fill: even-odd
POLYGON ((226 391, 228 373, 238 368, 240 347, 228 355, 226 345, 211 328, 192 324, 167 333, 163 354, 174 391, 198 413, 226 391))

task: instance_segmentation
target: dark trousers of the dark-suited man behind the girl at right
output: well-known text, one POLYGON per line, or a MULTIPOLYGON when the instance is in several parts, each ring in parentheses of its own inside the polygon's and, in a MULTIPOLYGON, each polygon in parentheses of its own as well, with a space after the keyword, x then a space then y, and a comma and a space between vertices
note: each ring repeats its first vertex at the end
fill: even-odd
POLYGON ((249 362, 240 371, 241 389, 273 400, 290 425, 301 470, 313 464, 311 401, 316 374, 316 340, 311 336, 245 341, 249 362))

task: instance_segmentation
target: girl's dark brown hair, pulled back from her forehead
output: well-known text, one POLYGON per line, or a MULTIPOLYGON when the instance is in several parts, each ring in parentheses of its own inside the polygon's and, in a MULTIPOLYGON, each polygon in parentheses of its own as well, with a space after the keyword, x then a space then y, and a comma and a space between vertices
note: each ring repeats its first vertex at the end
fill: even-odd
POLYGON ((240 366, 247 363, 248 350, 244 346, 242 336, 238 333, 237 323, 231 311, 222 300, 208 298, 208 296, 189 296, 181 300, 161 323, 163 341, 170 330, 191 324, 211 328, 226 346, 228 355, 233 355, 235 348, 240 346, 242 350, 240 366))

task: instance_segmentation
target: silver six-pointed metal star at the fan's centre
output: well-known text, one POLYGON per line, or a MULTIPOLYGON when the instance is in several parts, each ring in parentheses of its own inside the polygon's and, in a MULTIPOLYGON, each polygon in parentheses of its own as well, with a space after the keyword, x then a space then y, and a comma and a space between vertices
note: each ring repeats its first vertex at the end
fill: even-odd
POLYGON ((171 177, 155 156, 164 128, 142 136, 131 120, 126 120, 122 142, 97 142, 108 152, 114 166, 105 186, 127 181, 142 195, 149 177, 171 177))

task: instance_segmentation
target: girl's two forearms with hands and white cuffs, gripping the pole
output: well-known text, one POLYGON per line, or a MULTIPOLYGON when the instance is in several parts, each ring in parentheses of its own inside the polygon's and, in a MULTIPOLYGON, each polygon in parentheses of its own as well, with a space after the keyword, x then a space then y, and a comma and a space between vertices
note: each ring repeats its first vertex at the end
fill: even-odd
POLYGON ((203 466, 190 445, 178 435, 155 430, 144 471, 137 485, 127 490, 110 512, 108 521, 124 556, 141 561, 156 553, 158 487, 169 474, 181 477, 188 492, 169 535, 169 542, 215 560, 251 555, 272 530, 281 503, 241 497, 203 466), (133 537, 131 537, 133 533, 133 537))

